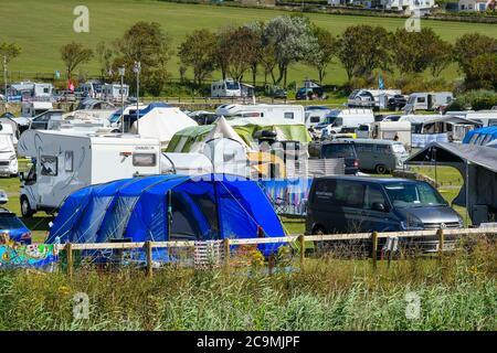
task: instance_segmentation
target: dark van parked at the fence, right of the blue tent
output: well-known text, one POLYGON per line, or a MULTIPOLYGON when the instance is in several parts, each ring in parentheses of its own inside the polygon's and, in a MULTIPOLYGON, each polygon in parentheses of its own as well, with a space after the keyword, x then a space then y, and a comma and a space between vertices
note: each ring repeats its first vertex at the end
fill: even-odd
POLYGON ((310 186, 306 234, 461 228, 463 218, 424 181, 325 176, 310 186))

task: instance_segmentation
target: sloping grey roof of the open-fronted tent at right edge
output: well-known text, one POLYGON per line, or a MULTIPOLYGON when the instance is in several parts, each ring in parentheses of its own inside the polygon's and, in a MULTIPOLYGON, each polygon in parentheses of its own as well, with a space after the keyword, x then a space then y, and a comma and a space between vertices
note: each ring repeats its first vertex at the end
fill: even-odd
POLYGON ((497 173, 497 149, 476 145, 433 142, 411 156, 405 163, 419 164, 435 160, 438 163, 469 161, 497 173))

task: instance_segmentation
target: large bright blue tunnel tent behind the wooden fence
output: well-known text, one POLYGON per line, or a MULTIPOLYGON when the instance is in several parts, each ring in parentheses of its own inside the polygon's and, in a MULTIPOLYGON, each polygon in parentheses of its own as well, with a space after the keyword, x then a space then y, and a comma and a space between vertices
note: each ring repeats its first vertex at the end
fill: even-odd
MULTIPOLYGON (((207 240, 284 236, 256 182, 234 175, 155 175, 91 185, 62 205, 46 243, 207 240)), ((282 244, 261 245, 269 255, 282 244)))

